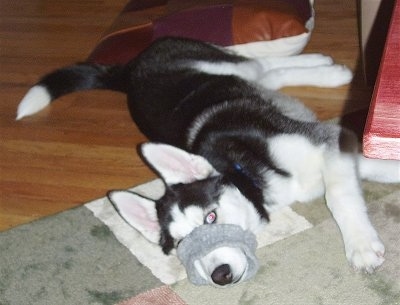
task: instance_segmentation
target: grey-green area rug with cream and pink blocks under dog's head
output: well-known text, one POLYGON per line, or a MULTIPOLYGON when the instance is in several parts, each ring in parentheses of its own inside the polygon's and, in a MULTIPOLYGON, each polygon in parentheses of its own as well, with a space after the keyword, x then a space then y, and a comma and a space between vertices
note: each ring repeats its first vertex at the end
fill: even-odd
MULTIPOLYGON (((400 185, 363 184, 386 245, 372 275, 352 270, 324 200, 273 215, 258 274, 235 287, 194 286, 101 198, 0 233, 0 304, 400 304, 400 185)), ((156 180, 135 188, 157 197, 156 180)))

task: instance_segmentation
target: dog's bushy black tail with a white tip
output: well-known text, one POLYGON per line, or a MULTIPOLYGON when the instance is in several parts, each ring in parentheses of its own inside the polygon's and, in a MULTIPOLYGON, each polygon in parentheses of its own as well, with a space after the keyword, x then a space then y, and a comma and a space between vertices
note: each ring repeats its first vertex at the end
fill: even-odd
POLYGON ((127 77, 124 66, 102 66, 81 63, 62 68, 44 76, 20 102, 17 120, 39 112, 56 98, 90 89, 109 89, 126 92, 127 77))

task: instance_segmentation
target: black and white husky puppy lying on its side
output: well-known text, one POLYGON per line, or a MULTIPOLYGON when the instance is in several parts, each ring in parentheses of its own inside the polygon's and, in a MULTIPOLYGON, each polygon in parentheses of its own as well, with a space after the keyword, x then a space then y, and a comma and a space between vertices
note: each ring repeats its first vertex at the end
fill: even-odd
MULTIPOLYGON (((200 225, 257 232, 269 213, 325 195, 347 259, 372 272, 385 249, 368 219, 359 179, 398 182, 399 162, 362 157, 351 132, 317 121, 275 91, 334 87, 351 78, 346 67, 318 54, 248 59, 203 42, 164 38, 127 65, 83 63, 50 73, 24 97, 17 119, 78 90, 125 92, 134 121, 154 141, 142 145, 141 154, 166 192, 157 201, 122 191, 110 199, 166 254, 200 225)), ((246 260, 239 249, 220 247, 196 268, 210 284, 225 285, 240 281, 246 260), (229 276, 221 279, 215 270, 222 265, 229 276)))

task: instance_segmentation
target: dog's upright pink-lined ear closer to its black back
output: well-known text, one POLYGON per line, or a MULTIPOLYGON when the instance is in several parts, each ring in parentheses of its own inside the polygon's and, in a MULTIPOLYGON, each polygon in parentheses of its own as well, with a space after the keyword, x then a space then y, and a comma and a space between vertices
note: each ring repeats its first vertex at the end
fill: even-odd
POLYGON ((203 157, 171 145, 146 143, 140 147, 140 152, 167 185, 191 183, 216 173, 203 157))

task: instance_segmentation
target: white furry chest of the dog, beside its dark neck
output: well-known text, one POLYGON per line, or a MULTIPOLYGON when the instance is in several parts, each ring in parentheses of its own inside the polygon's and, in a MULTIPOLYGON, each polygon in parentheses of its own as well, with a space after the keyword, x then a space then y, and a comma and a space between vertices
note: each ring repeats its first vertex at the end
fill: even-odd
POLYGON ((295 201, 306 202, 324 193, 322 166, 324 145, 316 146, 299 135, 279 135, 268 141, 272 159, 278 168, 287 171, 285 177, 267 172, 263 192, 268 211, 277 210, 295 201))

